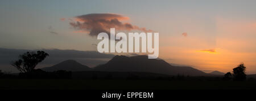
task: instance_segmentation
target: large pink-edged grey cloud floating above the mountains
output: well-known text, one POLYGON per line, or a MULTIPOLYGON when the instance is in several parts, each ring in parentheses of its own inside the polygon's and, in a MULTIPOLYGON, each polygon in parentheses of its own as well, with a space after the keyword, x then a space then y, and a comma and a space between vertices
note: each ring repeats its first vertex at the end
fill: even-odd
POLYGON ((110 33, 110 28, 115 30, 140 30, 142 32, 153 32, 146 28, 141 28, 130 23, 123 23, 122 21, 129 20, 129 17, 118 14, 87 14, 76 16, 75 19, 70 20, 69 25, 77 30, 84 30, 89 32, 90 36, 97 36, 98 33, 110 33))

